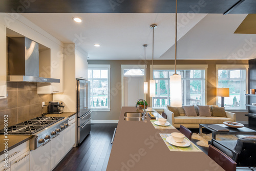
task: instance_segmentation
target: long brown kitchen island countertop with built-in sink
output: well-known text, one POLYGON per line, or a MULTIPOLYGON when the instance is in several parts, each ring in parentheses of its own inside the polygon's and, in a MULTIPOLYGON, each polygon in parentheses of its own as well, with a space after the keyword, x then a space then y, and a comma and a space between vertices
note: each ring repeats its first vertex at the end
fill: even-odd
POLYGON ((138 111, 122 107, 107 171, 223 170, 202 151, 170 151, 159 134, 179 132, 177 129, 155 129, 148 116, 146 123, 125 121, 125 112, 138 111))

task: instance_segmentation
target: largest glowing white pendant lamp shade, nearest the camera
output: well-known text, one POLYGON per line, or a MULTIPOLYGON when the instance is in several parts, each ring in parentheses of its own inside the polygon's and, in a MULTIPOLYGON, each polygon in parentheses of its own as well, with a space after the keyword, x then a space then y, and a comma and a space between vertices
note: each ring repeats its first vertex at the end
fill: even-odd
POLYGON ((182 106, 181 75, 170 76, 170 106, 182 106))

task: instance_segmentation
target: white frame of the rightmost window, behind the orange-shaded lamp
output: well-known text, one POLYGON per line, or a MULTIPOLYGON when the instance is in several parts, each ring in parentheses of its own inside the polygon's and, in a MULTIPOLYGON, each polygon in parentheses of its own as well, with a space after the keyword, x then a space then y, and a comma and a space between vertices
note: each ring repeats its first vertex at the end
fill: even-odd
MULTIPOLYGON (((246 94, 248 93, 248 64, 234 64, 234 65, 216 65, 216 88, 219 86, 219 70, 237 70, 237 69, 245 69, 246 70, 246 94)), ((216 97, 216 104, 218 104, 218 97, 216 97)), ((228 109, 226 111, 229 112, 248 112, 247 109, 228 109)))

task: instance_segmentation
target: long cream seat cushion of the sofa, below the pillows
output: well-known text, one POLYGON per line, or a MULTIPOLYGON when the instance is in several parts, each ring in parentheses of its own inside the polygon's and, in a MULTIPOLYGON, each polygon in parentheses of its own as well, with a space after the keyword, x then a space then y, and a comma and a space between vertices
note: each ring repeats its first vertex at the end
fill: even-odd
POLYGON ((233 121, 231 118, 224 117, 214 117, 214 116, 176 116, 174 118, 174 123, 176 124, 222 124, 225 121, 233 121))

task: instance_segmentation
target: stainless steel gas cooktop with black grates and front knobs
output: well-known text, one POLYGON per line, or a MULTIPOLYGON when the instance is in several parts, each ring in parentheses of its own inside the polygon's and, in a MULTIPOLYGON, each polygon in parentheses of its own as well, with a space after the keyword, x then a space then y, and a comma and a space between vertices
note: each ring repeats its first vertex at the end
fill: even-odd
MULTIPOLYGON (((9 135, 32 135, 30 139, 30 150, 45 145, 52 138, 69 126, 69 118, 65 117, 36 117, 34 119, 18 123, 8 127, 9 135)), ((5 130, 0 130, 4 134, 5 130)))

